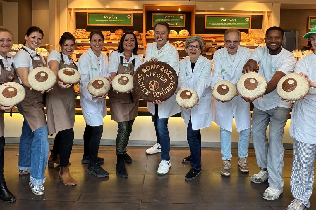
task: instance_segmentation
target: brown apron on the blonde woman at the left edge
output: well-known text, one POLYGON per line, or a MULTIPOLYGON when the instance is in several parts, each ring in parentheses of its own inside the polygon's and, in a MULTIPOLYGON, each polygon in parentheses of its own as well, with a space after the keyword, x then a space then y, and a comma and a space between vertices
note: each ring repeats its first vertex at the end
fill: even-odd
MULTIPOLYGON (((7 68, 7 67, 4 67, 3 61, 2 59, 0 59, 0 65, 1 65, 0 85, 2 85, 5 82, 11 82, 14 77, 13 63, 11 65, 11 68, 7 68)), ((0 110, 0 137, 4 135, 4 112, 5 112, 4 110, 0 110)))

